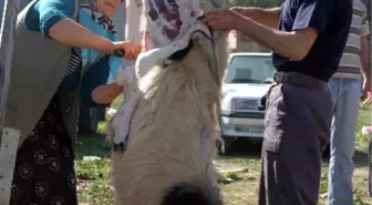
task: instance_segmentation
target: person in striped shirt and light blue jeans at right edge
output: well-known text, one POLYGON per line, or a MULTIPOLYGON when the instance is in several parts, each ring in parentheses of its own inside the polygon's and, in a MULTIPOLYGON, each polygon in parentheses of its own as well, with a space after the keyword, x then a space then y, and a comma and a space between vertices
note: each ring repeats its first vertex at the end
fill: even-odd
POLYGON ((328 205, 353 204, 354 132, 361 96, 361 76, 363 75, 364 79, 365 94, 371 91, 372 82, 368 34, 370 34, 370 28, 366 8, 360 0, 353 0, 353 17, 347 47, 337 73, 329 81, 333 100, 333 121, 328 205))

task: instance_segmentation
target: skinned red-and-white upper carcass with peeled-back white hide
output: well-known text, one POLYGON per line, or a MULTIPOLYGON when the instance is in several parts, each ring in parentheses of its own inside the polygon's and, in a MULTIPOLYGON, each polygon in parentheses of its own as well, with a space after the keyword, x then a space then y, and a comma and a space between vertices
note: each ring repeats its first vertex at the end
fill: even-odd
MULTIPOLYGON (((142 3, 127 1, 126 39, 135 43, 141 42, 143 53, 137 58, 135 69, 124 69, 123 76, 133 80, 131 76, 133 78, 135 70, 134 78, 138 78, 140 81, 155 64, 185 49, 192 39, 197 39, 207 52, 214 52, 208 40, 213 34, 197 18, 206 11, 225 7, 225 3, 226 0, 142 0, 142 3), (195 34, 196 31, 204 34, 195 34)), ((122 79, 118 81, 125 82, 122 79)), ((137 84, 130 84, 132 85, 124 89, 124 102, 112 121, 115 144, 126 142, 131 117, 138 99, 135 88, 137 84)))

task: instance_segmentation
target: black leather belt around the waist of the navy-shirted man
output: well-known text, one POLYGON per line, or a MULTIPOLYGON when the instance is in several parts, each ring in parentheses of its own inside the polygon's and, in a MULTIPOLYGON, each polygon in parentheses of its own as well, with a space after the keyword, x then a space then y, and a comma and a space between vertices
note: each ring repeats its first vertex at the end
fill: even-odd
POLYGON ((306 86, 308 89, 323 90, 326 81, 316 79, 308 74, 301 74, 297 72, 276 72, 273 81, 276 83, 288 83, 292 85, 306 86))

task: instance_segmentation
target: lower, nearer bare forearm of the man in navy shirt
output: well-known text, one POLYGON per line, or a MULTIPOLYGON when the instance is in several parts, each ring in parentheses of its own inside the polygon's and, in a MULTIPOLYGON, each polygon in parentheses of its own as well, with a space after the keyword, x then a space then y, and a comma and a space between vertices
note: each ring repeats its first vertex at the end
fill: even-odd
POLYGON ((240 18, 237 30, 254 39, 264 47, 290 58, 302 60, 310 51, 318 37, 318 31, 310 27, 297 31, 285 32, 261 25, 249 18, 240 18))

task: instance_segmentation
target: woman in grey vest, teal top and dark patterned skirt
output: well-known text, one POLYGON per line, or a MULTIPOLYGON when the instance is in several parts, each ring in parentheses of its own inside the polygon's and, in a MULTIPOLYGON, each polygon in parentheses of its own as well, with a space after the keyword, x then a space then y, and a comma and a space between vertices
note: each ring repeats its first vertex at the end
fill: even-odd
MULTIPOLYGON (((106 84, 111 53, 134 59, 140 47, 113 42, 79 24, 85 12, 114 32, 110 17, 121 0, 38 0, 18 16, 6 126, 21 131, 11 205, 76 205, 73 147, 80 98, 111 103, 123 91, 106 84), (103 54, 83 66, 82 50, 103 54)), ((95 23, 94 22, 94 23, 95 23)))

